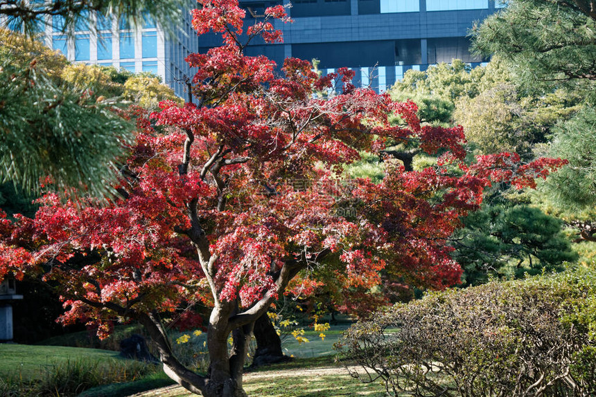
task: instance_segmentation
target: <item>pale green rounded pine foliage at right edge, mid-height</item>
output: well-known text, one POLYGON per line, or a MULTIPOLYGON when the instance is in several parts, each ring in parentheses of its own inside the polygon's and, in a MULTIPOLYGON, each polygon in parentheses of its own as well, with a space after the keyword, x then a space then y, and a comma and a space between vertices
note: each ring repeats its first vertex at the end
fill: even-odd
POLYGON ((596 109, 584 107, 577 115, 560 123, 548 154, 566 158, 569 165, 541 185, 557 207, 575 214, 596 205, 596 109))

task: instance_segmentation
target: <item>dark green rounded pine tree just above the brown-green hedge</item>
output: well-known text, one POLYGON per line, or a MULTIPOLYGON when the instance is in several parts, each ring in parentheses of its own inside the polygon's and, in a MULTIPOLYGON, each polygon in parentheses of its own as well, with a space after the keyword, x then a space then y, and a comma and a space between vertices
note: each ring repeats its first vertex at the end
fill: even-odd
POLYGON ((453 238, 453 258, 464 268, 465 285, 563 270, 563 263, 578 257, 563 222, 536 207, 485 204, 463 221, 453 238))

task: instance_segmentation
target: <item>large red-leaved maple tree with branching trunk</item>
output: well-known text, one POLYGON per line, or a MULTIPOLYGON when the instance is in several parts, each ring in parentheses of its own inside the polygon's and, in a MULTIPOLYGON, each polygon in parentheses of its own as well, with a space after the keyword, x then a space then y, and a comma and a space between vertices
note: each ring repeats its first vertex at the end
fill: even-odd
POLYGON ((199 3, 193 26, 224 44, 187 58, 198 104, 164 102, 137 119, 121 199, 79 207, 48 194, 35 219, 0 221, 0 277, 37 272, 58 283, 64 323, 107 335, 116 318, 141 322, 168 376, 190 391, 245 396, 255 320, 279 295, 315 284, 315 270, 342 286, 375 286, 381 270, 430 288, 458 284, 445 239, 491 178, 532 186, 564 163, 500 154, 466 166, 461 127, 421 125, 414 103, 356 89, 347 68, 319 77, 300 59, 279 72, 245 56, 242 37, 281 41, 272 20, 288 20, 283 7, 243 32, 236 0, 199 3), (347 178, 343 166, 362 152, 404 140, 441 154, 439 164, 405 172, 387 158, 382 182, 347 178), (213 306, 207 375, 177 360, 160 320, 195 299, 213 306))

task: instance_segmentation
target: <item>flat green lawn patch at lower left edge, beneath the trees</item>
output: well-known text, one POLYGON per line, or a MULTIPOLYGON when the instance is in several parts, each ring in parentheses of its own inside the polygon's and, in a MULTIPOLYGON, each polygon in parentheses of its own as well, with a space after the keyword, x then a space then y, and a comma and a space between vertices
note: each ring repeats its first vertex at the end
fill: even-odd
POLYGON ((39 379, 53 364, 80 358, 117 359, 118 353, 77 347, 0 344, 0 378, 17 376, 22 379, 39 379))

